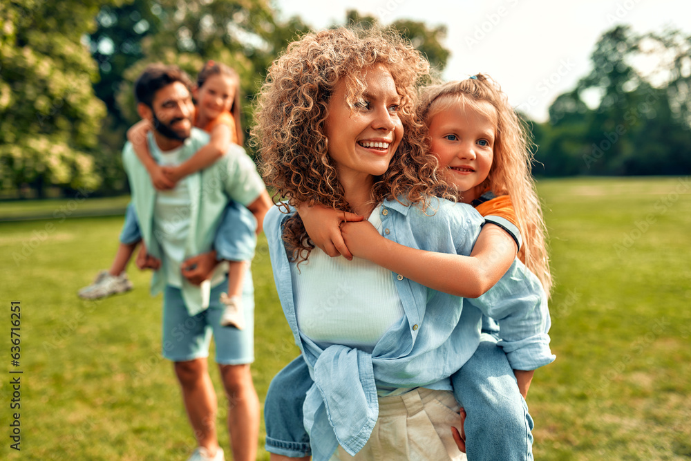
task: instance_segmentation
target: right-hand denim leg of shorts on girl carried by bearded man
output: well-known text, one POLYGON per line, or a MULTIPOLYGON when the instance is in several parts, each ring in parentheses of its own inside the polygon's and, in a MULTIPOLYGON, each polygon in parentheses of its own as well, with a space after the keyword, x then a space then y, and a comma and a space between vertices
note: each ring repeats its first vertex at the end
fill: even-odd
POLYGON ((249 209, 230 200, 216 231, 214 249, 218 259, 251 261, 257 245, 257 220, 249 209))

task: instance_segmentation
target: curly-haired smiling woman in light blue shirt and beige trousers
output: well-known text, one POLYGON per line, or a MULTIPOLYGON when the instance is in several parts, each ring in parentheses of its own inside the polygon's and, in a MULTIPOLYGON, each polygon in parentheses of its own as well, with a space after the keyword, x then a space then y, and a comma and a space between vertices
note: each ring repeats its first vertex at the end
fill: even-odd
MULTIPOLYGON (((283 440, 294 440, 293 426, 307 429, 317 461, 462 459, 451 436, 460 416, 449 377, 477 348, 482 312, 499 314, 502 340, 522 341, 519 351, 543 333, 545 294, 537 280, 516 283, 518 265, 498 289, 464 302, 365 260, 328 257, 294 211, 319 203, 367 216, 409 247, 471 253, 482 218, 436 198, 451 196, 414 115, 417 84, 427 75, 424 58, 397 35, 345 28, 306 35, 269 69, 253 140, 267 184, 286 201, 279 205, 284 214, 269 211, 264 229, 283 310, 303 352, 298 360, 314 381, 301 387, 305 380, 296 377, 290 388, 284 376, 281 390, 269 389, 306 393, 303 424, 269 415, 267 403, 272 453, 294 456, 300 448, 282 446, 269 431, 278 420, 286 426, 283 440), (521 290, 521 301, 506 302, 507 292, 521 290)), ((549 347, 541 352, 549 355, 549 347)))

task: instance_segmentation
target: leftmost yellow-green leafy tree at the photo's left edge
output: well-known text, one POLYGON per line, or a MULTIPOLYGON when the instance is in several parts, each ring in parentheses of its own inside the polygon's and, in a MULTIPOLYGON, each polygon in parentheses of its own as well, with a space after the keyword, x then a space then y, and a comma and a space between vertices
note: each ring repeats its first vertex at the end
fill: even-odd
POLYGON ((93 189, 97 132, 106 110, 94 95, 96 64, 82 43, 103 0, 0 4, 0 181, 93 189))

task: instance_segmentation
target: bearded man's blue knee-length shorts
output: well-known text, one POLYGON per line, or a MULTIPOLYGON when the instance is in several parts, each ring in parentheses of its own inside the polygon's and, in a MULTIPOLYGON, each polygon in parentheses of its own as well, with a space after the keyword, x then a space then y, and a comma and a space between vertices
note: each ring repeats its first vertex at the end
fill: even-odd
POLYGON ((247 271, 243 288, 245 329, 220 326, 225 307, 221 292, 228 280, 211 289, 209 308, 190 316, 180 288, 168 285, 163 292, 163 357, 171 361, 188 361, 209 357, 211 335, 216 343, 216 363, 220 365, 251 364, 254 361, 254 289, 252 273, 247 271))

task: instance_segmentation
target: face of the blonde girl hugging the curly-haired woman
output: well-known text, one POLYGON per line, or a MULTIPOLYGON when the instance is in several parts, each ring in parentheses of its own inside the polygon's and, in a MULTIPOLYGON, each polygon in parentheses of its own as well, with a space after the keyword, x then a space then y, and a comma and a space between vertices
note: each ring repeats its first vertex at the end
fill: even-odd
POLYGON ((463 202, 482 195, 480 185, 494 159, 497 112, 489 102, 448 104, 429 119, 431 152, 447 179, 463 191, 463 202))

